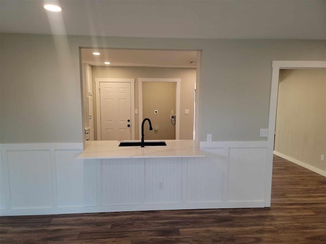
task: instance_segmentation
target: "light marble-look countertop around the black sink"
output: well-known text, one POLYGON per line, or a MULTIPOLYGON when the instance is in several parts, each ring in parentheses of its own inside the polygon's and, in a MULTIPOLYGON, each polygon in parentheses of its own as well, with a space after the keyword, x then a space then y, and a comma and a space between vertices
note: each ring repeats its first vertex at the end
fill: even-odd
MULTIPOLYGON (((151 141, 151 140, 145 140, 151 141)), ((120 141, 87 141, 77 159, 194 158, 205 157, 193 140, 164 140, 166 146, 119 146, 120 141)))

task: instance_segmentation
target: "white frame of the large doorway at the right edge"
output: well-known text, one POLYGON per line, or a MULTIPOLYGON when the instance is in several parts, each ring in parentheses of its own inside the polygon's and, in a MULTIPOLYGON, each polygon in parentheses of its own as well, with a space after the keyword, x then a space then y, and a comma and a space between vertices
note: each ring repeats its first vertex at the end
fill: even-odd
POLYGON ((267 164, 265 177, 265 206, 270 206, 271 176, 273 171, 274 134, 276 126, 276 109, 279 93, 280 70, 326 68, 325 61, 273 61, 268 113, 267 164))

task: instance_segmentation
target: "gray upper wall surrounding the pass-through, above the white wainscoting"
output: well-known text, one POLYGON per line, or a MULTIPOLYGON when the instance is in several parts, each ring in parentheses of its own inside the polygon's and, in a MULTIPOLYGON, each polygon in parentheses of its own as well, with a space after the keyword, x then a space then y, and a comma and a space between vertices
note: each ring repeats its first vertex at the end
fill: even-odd
POLYGON ((78 47, 202 49, 200 139, 265 140, 271 61, 325 60, 324 41, 1 35, 1 143, 81 142, 78 47))

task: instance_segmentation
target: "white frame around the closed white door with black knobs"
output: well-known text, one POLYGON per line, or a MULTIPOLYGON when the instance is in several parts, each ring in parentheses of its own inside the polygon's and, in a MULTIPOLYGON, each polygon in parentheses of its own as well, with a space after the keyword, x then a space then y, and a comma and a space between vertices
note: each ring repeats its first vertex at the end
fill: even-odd
POLYGON ((100 107, 100 82, 125 82, 130 83, 130 125, 131 140, 134 140, 134 79, 130 78, 95 78, 95 94, 96 94, 96 133, 97 140, 101 140, 101 107, 100 107))

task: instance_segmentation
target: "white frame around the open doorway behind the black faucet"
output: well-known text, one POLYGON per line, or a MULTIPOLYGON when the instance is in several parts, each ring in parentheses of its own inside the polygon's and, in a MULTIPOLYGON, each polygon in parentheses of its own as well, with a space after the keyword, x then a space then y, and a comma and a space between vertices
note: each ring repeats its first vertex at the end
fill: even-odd
POLYGON ((181 78, 138 78, 138 113, 139 113, 139 138, 142 137, 142 121, 143 121, 143 82, 176 82, 176 111, 177 117, 175 123, 175 139, 180 138, 180 93, 181 93, 181 78))

